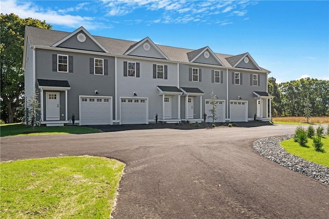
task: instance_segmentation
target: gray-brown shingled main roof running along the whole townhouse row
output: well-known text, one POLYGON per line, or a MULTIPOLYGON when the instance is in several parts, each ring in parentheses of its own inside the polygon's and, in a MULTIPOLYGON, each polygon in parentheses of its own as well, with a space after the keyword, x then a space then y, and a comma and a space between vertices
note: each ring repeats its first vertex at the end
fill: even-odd
MULTIPOLYGON (((26 35, 28 36, 28 41, 30 43, 30 46, 51 47, 52 45, 66 38, 70 34, 72 33, 26 26, 26 35)), ((93 35, 93 38, 97 42, 99 42, 107 51, 111 51, 112 55, 118 55, 118 56, 123 56, 129 50, 133 49, 139 44, 142 44, 143 40, 149 39, 149 38, 145 38, 142 41, 136 42, 136 41, 128 41, 128 40, 119 40, 114 38, 106 38, 104 36, 96 36, 96 35, 93 35)), ((149 42, 152 41, 150 40, 149 42)), ((193 60, 193 58, 191 59, 191 57, 195 58, 197 56, 196 53, 202 54, 202 51, 204 49, 209 48, 209 47, 203 47, 195 50, 195 49, 179 48, 172 46, 163 46, 158 44, 154 44, 154 45, 156 46, 154 48, 158 48, 168 58, 167 60, 171 60, 174 62, 181 62, 181 63, 190 63, 190 61, 193 60)), ((209 51, 211 50, 209 49, 209 51)), ((249 53, 243 53, 237 56, 232 56, 230 54, 222 54, 222 53, 213 53, 213 54, 218 60, 221 61, 221 63, 223 63, 223 66, 234 67, 236 63, 243 60, 244 56, 249 53), (239 57, 240 59, 238 59, 239 57)), ((251 57, 250 60, 254 62, 254 60, 251 57)), ((255 66, 258 65, 255 64, 255 66)), ((259 70, 262 70, 267 73, 270 72, 261 67, 259 68, 259 70)))

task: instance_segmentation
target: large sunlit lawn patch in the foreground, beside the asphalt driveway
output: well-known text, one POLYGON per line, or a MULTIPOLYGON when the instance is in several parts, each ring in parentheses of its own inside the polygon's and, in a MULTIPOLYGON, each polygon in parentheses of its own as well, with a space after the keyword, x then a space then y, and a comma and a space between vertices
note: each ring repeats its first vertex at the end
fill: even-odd
POLYGON ((0 218, 109 218, 124 163, 75 156, 0 166, 0 218))

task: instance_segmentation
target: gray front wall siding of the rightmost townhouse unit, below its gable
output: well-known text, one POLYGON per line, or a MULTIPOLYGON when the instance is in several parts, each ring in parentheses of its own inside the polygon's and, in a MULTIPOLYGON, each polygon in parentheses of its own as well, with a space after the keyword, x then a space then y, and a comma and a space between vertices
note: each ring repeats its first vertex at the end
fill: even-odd
MULTIPOLYGON (((235 70, 235 72, 238 72, 235 70)), ((253 118, 253 115, 257 113, 256 99, 254 99, 254 91, 266 91, 267 81, 266 74, 259 72, 246 72, 240 71, 242 74, 242 85, 234 85, 231 82, 232 70, 229 70, 229 83, 228 83, 228 93, 230 100, 239 100, 237 97, 241 97, 241 100, 248 101, 248 118, 253 118), (260 75, 260 86, 250 85, 250 75, 258 74, 260 75)), ((228 103, 229 104, 229 103, 228 103)), ((230 104, 229 104, 230 107, 230 104)), ((265 105, 264 105, 265 107, 265 105)), ((266 109, 266 107, 265 107, 266 109)), ((228 109, 230 111, 230 108, 228 109)), ((266 111, 263 112, 263 116, 266 117, 266 111)))

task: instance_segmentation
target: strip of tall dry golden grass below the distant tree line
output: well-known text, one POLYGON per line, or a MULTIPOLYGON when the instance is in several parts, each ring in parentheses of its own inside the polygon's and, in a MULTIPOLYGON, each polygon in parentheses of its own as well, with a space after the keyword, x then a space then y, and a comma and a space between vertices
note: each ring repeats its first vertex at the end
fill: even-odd
POLYGON ((273 117, 272 121, 276 124, 329 124, 329 117, 310 117, 309 123, 306 123, 306 117, 296 116, 273 117))

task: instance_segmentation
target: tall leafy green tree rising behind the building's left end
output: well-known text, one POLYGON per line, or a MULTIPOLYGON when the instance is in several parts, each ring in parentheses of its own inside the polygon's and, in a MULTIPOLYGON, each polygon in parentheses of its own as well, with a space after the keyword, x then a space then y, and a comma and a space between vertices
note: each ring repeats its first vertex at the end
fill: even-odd
POLYGON ((4 102, 4 109, 8 118, 8 123, 19 121, 24 108, 24 70, 23 49, 25 26, 33 26, 44 29, 51 29, 52 26, 45 21, 36 19, 21 19, 19 16, 11 14, 1 14, 1 99, 4 102))

